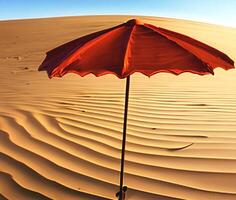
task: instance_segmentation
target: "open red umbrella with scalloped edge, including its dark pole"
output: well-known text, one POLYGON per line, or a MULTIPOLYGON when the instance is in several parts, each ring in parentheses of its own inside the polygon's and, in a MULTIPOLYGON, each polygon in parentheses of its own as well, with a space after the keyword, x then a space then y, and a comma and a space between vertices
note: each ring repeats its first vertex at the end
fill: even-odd
POLYGON ((46 70, 50 78, 67 73, 115 74, 126 78, 119 193, 122 200, 130 75, 134 72, 147 76, 158 72, 205 75, 214 74, 216 67, 228 70, 234 68, 234 61, 193 38, 132 19, 47 52, 39 70, 46 70))

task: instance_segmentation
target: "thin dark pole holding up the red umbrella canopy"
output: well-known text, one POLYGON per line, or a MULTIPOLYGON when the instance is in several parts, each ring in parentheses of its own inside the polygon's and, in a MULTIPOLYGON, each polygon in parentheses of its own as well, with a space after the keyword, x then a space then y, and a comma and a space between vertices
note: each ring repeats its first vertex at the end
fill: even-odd
POLYGON ((126 143, 126 128, 127 128, 127 115, 128 115, 128 103, 129 103, 129 85, 130 76, 126 78, 126 91, 125 91, 125 110, 124 110, 124 124, 123 124, 123 140, 122 140, 122 152, 121 152, 121 165, 120 165, 120 192, 119 200, 122 198, 123 180, 124 180, 124 162, 125 162, 125 143, 126 143))

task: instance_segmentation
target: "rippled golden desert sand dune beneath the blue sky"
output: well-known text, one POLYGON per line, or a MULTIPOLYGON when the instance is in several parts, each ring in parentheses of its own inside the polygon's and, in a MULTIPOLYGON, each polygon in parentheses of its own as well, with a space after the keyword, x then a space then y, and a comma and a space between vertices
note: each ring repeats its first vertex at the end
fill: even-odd
MULTIPOLYGON (((130 18, 0 22, 0 199, 116 199, 125 80, 75 74, 48 79, 37 69, 46 51, 130 18)), ((139 18, 236 60, 234 28, 139 18)), ((236 70, 131 77, 128 200, 236 199, 235 86, 236 70)))

